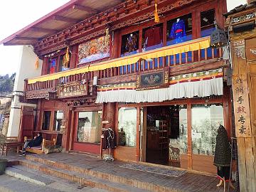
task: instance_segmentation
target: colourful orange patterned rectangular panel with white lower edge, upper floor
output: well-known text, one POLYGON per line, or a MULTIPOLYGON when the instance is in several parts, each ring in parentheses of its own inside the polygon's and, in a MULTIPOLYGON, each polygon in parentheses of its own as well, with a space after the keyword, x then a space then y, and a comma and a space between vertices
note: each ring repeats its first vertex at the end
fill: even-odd
POLYGON ((78 47, 79 64, 110 57, 110 36, 102 36, 82 43, 78 47))

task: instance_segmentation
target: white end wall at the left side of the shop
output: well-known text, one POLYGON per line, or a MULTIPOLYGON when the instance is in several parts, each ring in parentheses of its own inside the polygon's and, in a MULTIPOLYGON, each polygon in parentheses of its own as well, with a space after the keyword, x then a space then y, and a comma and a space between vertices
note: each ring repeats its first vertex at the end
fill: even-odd
POLYGON ((39 67, 35 68, 37 55, 33 53, 31 46, 22 46, 19 55, 18 68, 16 69, 16 78, 14 82, 14 99, 11 102, 11 112, 7 136, 18 136, 21 118, 21 106, 34 106, 31 104, 19 102, 18 95, 23 95, 24 80, 41 75, 42 60, 39 60, 39 67))

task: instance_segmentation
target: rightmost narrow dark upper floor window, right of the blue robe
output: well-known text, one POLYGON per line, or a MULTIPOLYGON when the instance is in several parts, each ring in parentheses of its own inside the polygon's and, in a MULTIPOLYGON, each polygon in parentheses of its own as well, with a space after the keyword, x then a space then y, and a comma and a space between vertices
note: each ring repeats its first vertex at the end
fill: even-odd
POLYGON ((201 12, 201 37, 210 36, 210 33, 214 31, 214 20, 214 9, 201 12))

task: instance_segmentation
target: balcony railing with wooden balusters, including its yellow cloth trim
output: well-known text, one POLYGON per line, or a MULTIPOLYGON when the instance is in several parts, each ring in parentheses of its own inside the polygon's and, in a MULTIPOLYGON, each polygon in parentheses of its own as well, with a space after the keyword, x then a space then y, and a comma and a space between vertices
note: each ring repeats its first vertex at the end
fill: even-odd
POLYGON ((127 57, 97 63, 95 65, 75 68, 65 72, 51 75, 43 75, 38 78, 26 80, 25 91, 43 90, 55 88, 60 83, 87 79, 91 81, 95 75, 98 79, 111 78, 118 75, 132 74, 139 71, 186 65, 188 63, 200 63, 206 60, 221 58, 222 49, 208 48, 200 43, 207 43, 209 38, 188 41, 173 46, 129 55, 127 57), (203 48, 202 48, 203 47, 203 48), (179 49, 179 50, 178 50, 179 49), (180 50, 188 50, 181 52, 180 50), (180 53, 178 53, 180 52, 180 53), (156 58, 154 58, 156 56, 156 58), (130 60, 137 60, 130 63, 130 60), (127 65, 125 65, 127 63, 127 65))

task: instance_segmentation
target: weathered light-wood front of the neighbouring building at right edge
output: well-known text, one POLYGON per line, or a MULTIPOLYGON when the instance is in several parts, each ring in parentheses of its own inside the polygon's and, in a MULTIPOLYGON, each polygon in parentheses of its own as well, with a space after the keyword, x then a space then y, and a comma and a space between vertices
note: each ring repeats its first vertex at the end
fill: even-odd
POLYGON ((240 11, 229 14, 226 20, 233 60, 233 100, 240 191, 256 190, 255 11, 255 4, 248 4, 240 11), (245 117, 245 122, 241 123, 240 117, 245 117))

